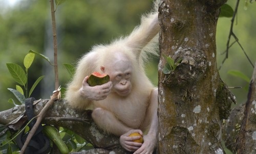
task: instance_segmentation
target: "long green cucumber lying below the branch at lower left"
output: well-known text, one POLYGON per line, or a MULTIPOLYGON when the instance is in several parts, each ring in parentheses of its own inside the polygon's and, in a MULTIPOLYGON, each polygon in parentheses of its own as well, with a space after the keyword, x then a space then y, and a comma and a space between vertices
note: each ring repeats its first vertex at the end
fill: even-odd
POLYGON ((59 136, 59 132, 54 126, 44 125, 44 130, 42 132, 58 147, 60 153, 67 154, 69 153, 69 149, 65 142, 59 136))

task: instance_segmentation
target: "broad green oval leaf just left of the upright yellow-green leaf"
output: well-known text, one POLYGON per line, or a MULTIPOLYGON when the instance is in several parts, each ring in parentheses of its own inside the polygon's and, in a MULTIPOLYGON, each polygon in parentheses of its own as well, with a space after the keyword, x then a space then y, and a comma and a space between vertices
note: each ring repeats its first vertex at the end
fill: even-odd
POLYGON ((27 76, 25 71, 17 64, 7 63, 7 68, 12 75, 12 78, 20 85, 25 86, 27 82, 27 76))

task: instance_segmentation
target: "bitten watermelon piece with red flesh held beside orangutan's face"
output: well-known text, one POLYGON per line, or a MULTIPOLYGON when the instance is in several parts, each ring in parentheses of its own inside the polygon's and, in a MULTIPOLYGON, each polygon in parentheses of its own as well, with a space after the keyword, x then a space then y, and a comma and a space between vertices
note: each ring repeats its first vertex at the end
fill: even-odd
POLYGON ((110 76, 108 74, 100 74, 99 72, 94 72, 89 76, 87 83, 93 87, 97 85, 103 85, 110 81, 110 76))

